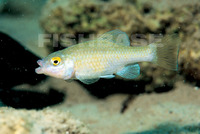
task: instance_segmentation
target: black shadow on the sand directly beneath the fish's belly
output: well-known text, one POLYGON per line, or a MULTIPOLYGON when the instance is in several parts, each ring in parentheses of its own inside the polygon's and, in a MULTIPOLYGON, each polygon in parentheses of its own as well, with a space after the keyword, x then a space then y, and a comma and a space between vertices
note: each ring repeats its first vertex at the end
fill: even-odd
MULTIPOLYGON (((149 82, 143 80, 125 81, 121 79, 100 79, 98 82, 91 85, 85 85, 82 82, 79 83, 81 83, 91 95, 97 98, 105 98, 112 94, 138 95, 142 93, 151 93, 145 91, 145 85, 149 84, 149 82)), ((156 90, 152 91, 162 93, 170 90, 172 90, 172 86, 156 88, 156 90)))

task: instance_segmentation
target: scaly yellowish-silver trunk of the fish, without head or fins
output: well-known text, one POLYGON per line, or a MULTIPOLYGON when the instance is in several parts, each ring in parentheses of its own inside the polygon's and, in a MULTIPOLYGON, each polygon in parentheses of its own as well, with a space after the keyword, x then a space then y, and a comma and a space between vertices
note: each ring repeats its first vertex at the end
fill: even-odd
POLYGON ((122 68, 124 64, 132 63, 134 59, 144 58, 144 60, 146 60, 145 57, 149 57, 151 54, 149 46, 119 46, 106 41, 90 41, 87 42, 87 44, 79 45, 80 46, 77 45, 72 48, 74 51, 79 48, 78 52, 70 50, 71 53, 77 54, 76 57, 78 60, 75 60, 75 70, 85 70, 85 72, 82 73, 84 73, 85 76, 86 74, 89 75, 91 78, 99 74, 106 75, 113 70, 118 70, 122 68), (108 47, 104 47, 106 45, 108 45, 108 47), (87 47, 87 49, 84 47, 87 47))

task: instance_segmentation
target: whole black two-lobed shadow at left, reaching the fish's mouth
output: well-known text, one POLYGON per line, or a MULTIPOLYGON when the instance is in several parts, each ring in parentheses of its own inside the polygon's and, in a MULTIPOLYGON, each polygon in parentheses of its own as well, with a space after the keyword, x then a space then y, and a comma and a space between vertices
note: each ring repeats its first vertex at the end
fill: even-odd
POLYGON ((14 108, 41 109, 61 103, 65 97, 54 89, 48 93, 12 90, 24 83, 35 85, 46 78, 35 73, 39 57, 0 32, 0 105, 14 108))

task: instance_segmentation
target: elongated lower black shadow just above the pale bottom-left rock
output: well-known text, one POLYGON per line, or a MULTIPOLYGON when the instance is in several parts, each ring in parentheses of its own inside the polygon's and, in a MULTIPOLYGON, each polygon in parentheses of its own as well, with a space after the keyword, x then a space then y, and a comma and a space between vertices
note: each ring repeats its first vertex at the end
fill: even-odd
POLYGON ((7 89, 0 92, 0 98, 4 106, 42 109, 63 102, 65 94, 54 89, 50 89, 48 93, 7 89))

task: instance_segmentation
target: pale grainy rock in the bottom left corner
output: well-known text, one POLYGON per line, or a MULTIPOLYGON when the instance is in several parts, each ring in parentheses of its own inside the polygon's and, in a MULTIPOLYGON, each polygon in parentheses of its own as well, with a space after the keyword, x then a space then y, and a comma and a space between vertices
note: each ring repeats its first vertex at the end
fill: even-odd
POLYGON ((89 134, 82 122, 69 112, 53 109, 15 110, 0 108, 1 134, 89 134))

